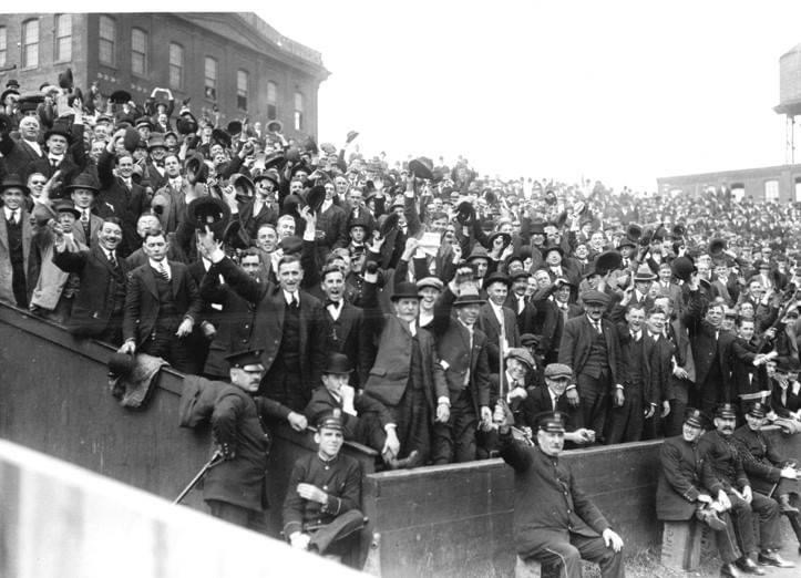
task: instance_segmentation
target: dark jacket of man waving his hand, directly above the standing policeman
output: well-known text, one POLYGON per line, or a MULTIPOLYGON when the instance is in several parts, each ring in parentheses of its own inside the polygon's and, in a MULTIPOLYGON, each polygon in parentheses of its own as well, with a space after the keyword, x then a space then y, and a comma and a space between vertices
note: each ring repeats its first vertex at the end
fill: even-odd
MULTIPOLYGON (((206 272, 206 276, 209 275, 222 275, 225 282, 239 297, 248 302, 256 303, 256 319, 253 332, 249 333, 248 345, 251 349, 263 350, 261 363, 265 371, 269 372, 281 345, 280 336, 284 332, 284 316, 287 307, 284 291, 279 286, 259 283, 227 257, 213 265, 206 272)), ((311 390, 319 383, 319 369, 325 361, 322 359, 322 334, 317 326, 319 319, 318 309, 321 303, 305 291, 299 291, 299 296, 300 343, 298 353, 301 359, 300 380, 305 398, 308 400, 311 390)))

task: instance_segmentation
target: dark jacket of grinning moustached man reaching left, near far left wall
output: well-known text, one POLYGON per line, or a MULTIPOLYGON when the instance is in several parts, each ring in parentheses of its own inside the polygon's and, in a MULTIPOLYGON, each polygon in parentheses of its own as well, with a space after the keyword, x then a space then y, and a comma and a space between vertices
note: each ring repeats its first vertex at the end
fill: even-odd
POLYGON ((122 269, 122 286, 114 275, 114 266, 100 246, 70 252, 53 251, 53 262, 62 270, 75 272, 81 278, 81 288, 72 303, 72 314, 66 323, 71 333, 96 337, 103 333, 116 311, 120 314, 125 305, 126 281, 131 267, 117 256, 122 269))

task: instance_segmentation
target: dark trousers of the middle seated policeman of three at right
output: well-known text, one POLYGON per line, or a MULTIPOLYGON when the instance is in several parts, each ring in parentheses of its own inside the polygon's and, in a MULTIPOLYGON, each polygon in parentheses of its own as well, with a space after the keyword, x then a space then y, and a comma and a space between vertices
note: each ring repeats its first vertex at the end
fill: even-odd
POLYGON ((742 553, 756 557, 760 548, 779 548, 779 504, 759 492, 753 492, 750 505, 732 492, 727 491, 727 494, 731 500, 731 516, 742 553), (759 544, 754 535, 754 519, 759 522, 759 544))

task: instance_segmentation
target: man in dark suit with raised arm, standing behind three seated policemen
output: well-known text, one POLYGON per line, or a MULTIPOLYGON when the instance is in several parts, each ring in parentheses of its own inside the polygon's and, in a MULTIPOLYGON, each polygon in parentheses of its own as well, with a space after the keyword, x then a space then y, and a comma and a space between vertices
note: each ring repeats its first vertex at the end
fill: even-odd
POLYGON ((735 336, 721 330, 723 306, 709 305, 697 273, 690 278, 688 288, 682 321, 690 336, 696 362, 696 388, 690 404, 711 413, 719 403, 731 401, 730 350, 735 336))

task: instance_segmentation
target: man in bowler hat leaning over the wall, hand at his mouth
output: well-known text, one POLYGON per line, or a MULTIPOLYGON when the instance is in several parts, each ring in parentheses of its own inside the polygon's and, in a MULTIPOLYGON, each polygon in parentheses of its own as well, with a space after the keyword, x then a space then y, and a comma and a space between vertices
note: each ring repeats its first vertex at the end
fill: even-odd
POLYGON ((335 410, 341 411, 345 438, 372 447, 381 453, 390 467, 397 467, 400 463, 396 458, 400 451, 397 425, 380 401, 357 394, 353 388, 348 385, 352 372, 353 368, 347 355, 329 354, 322 369, 322 385, 311 393, 311 400, 304 413, 310 423, 316 423, 335 410))

